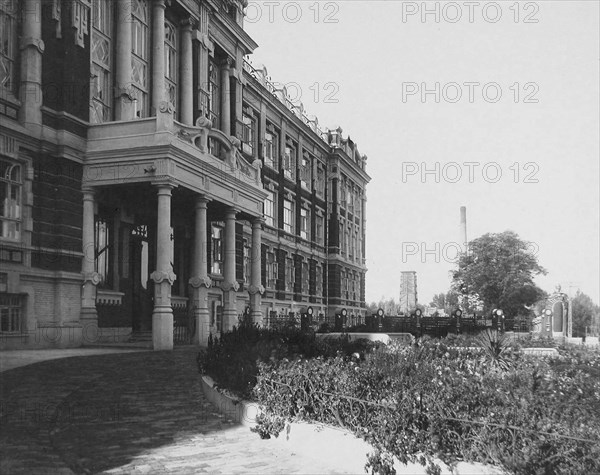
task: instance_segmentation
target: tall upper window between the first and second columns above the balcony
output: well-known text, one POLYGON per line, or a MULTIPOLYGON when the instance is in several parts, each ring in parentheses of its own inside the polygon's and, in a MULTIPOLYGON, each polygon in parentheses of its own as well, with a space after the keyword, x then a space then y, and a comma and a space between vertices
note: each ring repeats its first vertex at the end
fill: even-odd
POLYGON ((133 95, 135 96, 135 116, 138 118, 148 117, 148 24, 150 15, 148 13, 148 0, 132 0, 131 17, 131 77, 133 95))

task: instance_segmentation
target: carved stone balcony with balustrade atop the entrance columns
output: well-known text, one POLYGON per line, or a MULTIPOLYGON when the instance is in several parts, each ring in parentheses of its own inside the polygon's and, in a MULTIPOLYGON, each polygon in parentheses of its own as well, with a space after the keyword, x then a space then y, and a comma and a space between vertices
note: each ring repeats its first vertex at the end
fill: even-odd
POLYGON ((92 125, 83 186, 169 182, 262 214, 261 162, 240 153, 240 141, 200 118, 194 126, 173 118, 170 104, 155 117, 92 125))

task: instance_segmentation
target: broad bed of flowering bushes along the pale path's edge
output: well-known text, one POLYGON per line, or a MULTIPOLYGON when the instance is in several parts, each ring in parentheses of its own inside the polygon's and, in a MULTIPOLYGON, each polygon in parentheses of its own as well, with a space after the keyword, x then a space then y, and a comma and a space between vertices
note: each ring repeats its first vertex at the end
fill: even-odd
POLYGON ((394 473, 394 457, 430 473, 439 472, 436 458, 517 474, 600 470, 600 378, 583 369, 597 370, 598 355, 565 349, 543 359, 497 349, 420 340, 392 343, 364 361, 262 364, 254 396, 271 427, 316 421, 366 439, 372 473, 394 473))

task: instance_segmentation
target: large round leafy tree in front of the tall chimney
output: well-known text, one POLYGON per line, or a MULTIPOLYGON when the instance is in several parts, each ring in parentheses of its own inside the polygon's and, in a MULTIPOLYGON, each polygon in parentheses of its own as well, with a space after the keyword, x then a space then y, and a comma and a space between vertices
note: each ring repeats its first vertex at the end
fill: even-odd
POLYGON ((452 286, 470 300, 483 302, 485 312, 500 308, 510 317, 530 315, 530 306, 546 293, 533 277, 546 274, 532 243, 513 231, 488 233, 469 243, 452 273, 452 286))

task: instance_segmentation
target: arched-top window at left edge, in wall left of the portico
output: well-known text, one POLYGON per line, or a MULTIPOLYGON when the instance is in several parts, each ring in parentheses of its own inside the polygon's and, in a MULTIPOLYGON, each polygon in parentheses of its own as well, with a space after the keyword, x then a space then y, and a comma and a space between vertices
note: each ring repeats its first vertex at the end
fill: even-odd
POLYGON ((21 239, 21 165, 0 160, 0 222, 3 239, 21 239))

